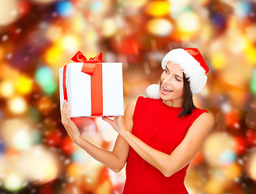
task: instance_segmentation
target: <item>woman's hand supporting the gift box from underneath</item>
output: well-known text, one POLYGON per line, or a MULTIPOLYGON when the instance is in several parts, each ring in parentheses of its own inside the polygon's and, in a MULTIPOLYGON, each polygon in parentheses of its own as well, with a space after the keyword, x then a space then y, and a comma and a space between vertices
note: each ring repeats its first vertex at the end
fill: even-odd
POLYGON ((120 135, 127 131, 126 123, 123 116, 115 116, 113 120, 109 119, 109 117, 107 116, 102 116, 102 120, 105 120, 106 122, 111 124, 113 129, 115 129, 120 135))

